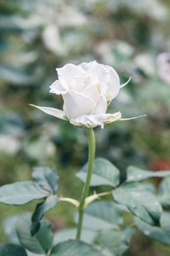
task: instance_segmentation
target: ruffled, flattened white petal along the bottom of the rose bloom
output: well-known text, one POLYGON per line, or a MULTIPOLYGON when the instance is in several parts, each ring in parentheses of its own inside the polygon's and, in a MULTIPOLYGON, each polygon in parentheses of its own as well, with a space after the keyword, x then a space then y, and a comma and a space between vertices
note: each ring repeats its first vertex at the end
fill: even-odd
POLYGON ((97 114, 97 115, 82 115, 77 117, 76 119, 71 119, 70 123, 77 126, 86 126, 86 127, 96 127, 101 125, 103 126, 105 123, 112 123, 119 119, 121 119, 121 113, 114 113, 114 114, 97 114))

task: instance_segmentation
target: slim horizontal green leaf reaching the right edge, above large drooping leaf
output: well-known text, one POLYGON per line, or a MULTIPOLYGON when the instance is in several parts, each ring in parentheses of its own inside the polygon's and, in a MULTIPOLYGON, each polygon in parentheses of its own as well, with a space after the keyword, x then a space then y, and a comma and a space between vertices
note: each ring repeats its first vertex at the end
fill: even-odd
POLYGON ((127 169, 127 181, 143 181, 151 177, 166 177, 170 175, 170 170, 161 170, 159 172, 153 172, 151 170, 142 170, 135 166, 129 166, 127 169))

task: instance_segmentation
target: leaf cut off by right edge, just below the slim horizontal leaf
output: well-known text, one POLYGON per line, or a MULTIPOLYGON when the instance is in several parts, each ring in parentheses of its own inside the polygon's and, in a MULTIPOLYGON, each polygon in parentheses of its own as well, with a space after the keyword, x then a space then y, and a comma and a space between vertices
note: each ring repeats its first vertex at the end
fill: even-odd
POLYGON ((158 199, 163 207, 170 206, 170 178, 166 178, 161 182, 158 199))

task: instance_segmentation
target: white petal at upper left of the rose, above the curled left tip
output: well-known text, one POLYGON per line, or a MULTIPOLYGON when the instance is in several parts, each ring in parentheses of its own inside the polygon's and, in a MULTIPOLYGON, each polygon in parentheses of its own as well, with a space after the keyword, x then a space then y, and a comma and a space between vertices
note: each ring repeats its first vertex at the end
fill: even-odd
POLYGON ((71 88, 71 81, 77 77, 85 74, 85 71, 76 65, 67 64, 64 67, 56 69, 58 73, 58 80, 62 86, 69 89, 71 88))

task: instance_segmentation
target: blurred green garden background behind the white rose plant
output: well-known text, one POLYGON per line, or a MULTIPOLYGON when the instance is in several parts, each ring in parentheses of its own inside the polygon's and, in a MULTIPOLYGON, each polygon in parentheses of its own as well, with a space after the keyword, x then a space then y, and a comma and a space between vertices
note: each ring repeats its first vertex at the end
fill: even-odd
MULTIPOLYGON (((55 166, 60 193, 79 199, 75 172, 87 160, 85 132, 28 104, 62 108, 62 98, 49 94, 56 67, 94 59, 114 67, 121 84, 132 77, 109 112, 147 115, 95 129, 97 156, 116 164, 122 179, 130 164, 169 170, 169 25, 169 0, 1 0, 0 185, 31 179, 32 166, 55 166)), ((3 219, 34 206, 1 205, 1 241, 3 219)), ((73 225, 73 212, 60 203, 47 216, 57 229, 73 225)), ((141 234, 134 240, 126 255, 170 253, 141 234)))

